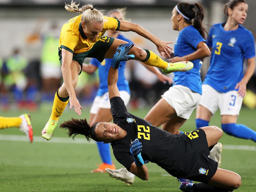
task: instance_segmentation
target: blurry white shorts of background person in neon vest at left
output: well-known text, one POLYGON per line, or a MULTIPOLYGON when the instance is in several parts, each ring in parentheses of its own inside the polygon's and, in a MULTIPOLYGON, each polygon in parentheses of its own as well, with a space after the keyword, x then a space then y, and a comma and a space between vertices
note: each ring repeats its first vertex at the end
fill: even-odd
POLYGON ((43 79, 56 78, 60 79, 62 77, 61 66, 52 66, 47 64, 42 64, 40 67, 41 76, 43 79))

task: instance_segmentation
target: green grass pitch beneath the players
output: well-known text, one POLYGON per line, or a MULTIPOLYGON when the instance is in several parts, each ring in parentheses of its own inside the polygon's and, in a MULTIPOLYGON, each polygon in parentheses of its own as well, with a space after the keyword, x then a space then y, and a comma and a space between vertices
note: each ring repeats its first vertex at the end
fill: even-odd
MULTIPOLYGON (((0 130, 0 191, 180 191, 179 183, 174 177, 168 175, 165 170, 156 164, 146 164, 149 171, 149 180, 143 181, 135 178, 131 186, 125 185, 120 180, 116 181, 105 173, 90 173, 90 170, 101 163, 97 146, 94 142, 79 143, 82 136, 77 136, 74 142, 68 138, 66 131, 56 128, 54 137, 61 137, 57 143, 54 140, 46 141, 40 138, 41 130, 48 121, 49 110, 38 110, 30 112, 34 129, 35 142, 28 141, 4 141, 9 135, 23 135, 16 128, 0 130), (38 136, 38 137, 37 137, 38 136), (71 143, 67 143, 70 141, 71 143)), ((149 109, 136 110, 131 113, 139 117, 144 117, 149 109)), ((18 116, 25 111, 0 112, 1 116, 18 116)), ((242 108, 238 123, 246 124, 252 129, 255 128, 256 110, 242 108)), ((79 118, 74 110, 66 110, 59 122, 79 118)), ((89 118, 89 109, 82 110, 82 117, 89 118)), ((60 124, 60 123, 59 123, 60 124)), ((212 118, 211 125, 220 127, 219 112, 212 118)), ((182 131, 195 129, 195 113, 191 115, 183 127, 182 131)), ((54 138, 53 137, 53 138, 54 138)), ((83 140, 82 140, 83 141, 83 140)), ((86 141, 86 138, 84 138, 86 141)), ((242 177, 242 186, 235 191, 255 192, 256 191, 256 151, 253 150, 255 143, 250 140, 243 140, 228 136, 224 133, 220 142, 224 145, 222 152, 221 168, 237 172, 242 177), (246 145, 246 150, 225 149, 230 145, 246 145), (250 150, 251 149, 251 150, 250 150)), ((236 147, 235 147, 236 148, 236 147)), ((120 165, 112 156, 116 168, 120 165)))

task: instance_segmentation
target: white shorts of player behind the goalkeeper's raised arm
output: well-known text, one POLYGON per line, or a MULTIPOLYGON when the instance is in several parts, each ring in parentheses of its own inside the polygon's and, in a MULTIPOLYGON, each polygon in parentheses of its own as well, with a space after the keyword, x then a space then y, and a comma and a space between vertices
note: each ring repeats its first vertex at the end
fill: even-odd
MULTIPOLYGON (((119 91, 120 97, 124 101, 125 106, 129 103, 131 95, 127 91, 119 91)), ((110 109, 109 93, 106 92, 102 96, 96 96, 90 110, 91 114, 97 114, 99 108, 110 109)))

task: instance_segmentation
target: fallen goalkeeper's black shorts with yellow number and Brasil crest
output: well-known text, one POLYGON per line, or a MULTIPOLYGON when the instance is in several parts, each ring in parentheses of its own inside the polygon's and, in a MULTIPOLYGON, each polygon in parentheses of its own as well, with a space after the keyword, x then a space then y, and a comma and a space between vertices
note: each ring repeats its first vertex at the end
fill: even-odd
POLYGON ((218 168, 218 162, 208 157, 210 150, 206 134, 196 129, 183 134, 185 141, 185 170, 183 178, 208 184, 218 168))

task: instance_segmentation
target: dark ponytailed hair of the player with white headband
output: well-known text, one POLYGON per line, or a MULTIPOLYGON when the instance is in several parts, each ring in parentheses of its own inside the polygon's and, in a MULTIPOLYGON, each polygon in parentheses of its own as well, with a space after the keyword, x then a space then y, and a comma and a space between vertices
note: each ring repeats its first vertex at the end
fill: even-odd
POLYGON ((208 33, 204 28, 202 21, 204 19, 204 8, 199 3, 189 4, 189 3, 179 3, 177 5, 179 11, 184 14, 189 19, 185 19, 187 24, 190 24, 199 31, 200 35, 206 39, 208 38, 208 33), (193 22, 192 22, 192 19, 193 22))

